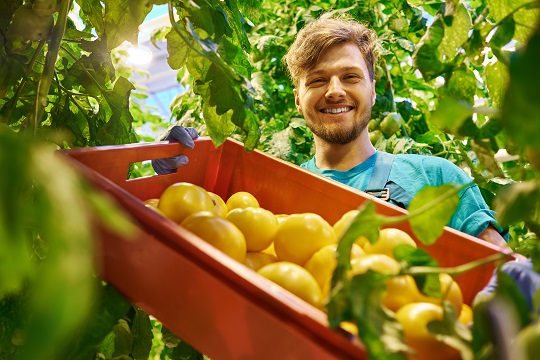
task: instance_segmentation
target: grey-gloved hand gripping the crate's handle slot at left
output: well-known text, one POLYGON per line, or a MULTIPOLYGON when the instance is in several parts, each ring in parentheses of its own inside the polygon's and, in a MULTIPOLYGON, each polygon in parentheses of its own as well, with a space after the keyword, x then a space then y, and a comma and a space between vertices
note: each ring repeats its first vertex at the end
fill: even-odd
MULTIPOLYGON (((193 149, 196 140, 199 137, 197 130, 194 128, 184 128, 180 125, 175 125, 169 133, 161 140, 172 140, 179 142, 188 149, 193 149)), ((152 167, 159 175, 171 174, 176 172, 176 169, 188 163, 188 158, 185 155, 176 155, 169 158, 152 160, 152 167)))

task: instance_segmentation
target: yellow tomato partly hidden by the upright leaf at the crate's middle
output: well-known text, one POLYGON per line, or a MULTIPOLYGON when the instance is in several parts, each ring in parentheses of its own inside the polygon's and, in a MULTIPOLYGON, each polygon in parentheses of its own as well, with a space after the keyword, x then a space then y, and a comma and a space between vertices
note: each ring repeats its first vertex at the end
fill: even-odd
MULTIPOLYGON (((323 246, 317 250, 306 262, 304 267, 313 275, 319 284, 323 297, 326 299, 330 293, 332 274, 337 266, 337 244, 323 246)), ((351 248, 351 258, 355 259, 364 255, 364 250, 356 244, 351 248)))

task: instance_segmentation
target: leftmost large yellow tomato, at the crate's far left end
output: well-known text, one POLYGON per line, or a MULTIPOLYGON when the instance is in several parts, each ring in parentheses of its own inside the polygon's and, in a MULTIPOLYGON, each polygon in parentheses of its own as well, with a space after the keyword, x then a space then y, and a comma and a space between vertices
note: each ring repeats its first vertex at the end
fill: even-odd
POLYGON ((165 216, 180 224, 182 220, 199 211, 213 211, 214 203, 208 192, 187 182, 169 185, 159 198, 158 209, 165 216))

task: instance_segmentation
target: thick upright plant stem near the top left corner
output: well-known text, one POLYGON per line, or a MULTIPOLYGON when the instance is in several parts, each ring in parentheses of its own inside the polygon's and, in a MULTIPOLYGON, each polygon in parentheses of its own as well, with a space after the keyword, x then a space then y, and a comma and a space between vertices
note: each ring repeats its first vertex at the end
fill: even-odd
POLYGON ((47 106, 47 97, 49 95, 49 90, 51 88, 52 78, 54 75, 54 66, 56 64, 56 59, 58 58, 60 43, 62 42, 64 32, 66 31, 66 23, 68 12, 71 8, 71 2, 72 0, 64 0, 60 2, 58 18, 51 33, 51 42, 47 50, 47 55, 45 56, 45 65, 38 83, 38 93, 36 96, 35 108, 33 114, 30 116, 29 121, 29 126, 33 130, 34 135, 36 134, 39 121, 43 116, 45 106, 47 106))

